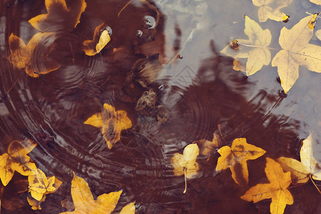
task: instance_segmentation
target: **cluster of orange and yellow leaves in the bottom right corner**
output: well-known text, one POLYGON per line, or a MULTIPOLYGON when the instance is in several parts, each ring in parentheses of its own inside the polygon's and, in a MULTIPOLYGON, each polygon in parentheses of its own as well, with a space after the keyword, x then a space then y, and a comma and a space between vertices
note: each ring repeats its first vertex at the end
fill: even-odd
MULTIPOLYGON (((215 170, 220 172, 230 168, 233 180, 242 186, 247 186, 249 181, 247 161, 265 155, 262 148, 247 143, 245 138, 237 138, 231 146, 223 146, 219 149, 218 136, 214 135, 213 141, 195 141, 184 148, 183 155, 175 153, 171 159, 174 174, 185 176, 183 193, 186 193, 187 178, 196 178, 200 169, 196 162, 200 154, 198 144, 201 145, 201 150, 205 151, 205 153, 201 153, 203 156, 210 156, 211 153, 218 151, 220 157, 215 170), (210 149, 210 153, 208 149, 210 149)), ((285 206, 293 203, 293 197, 287 190, 291 183, 293 185, 307 183, 310 179, 320 192, 314 180, 321 180, 321 163, 317 163, 313 157, 311 134, 302 143, 300 159, 301 162, 293 158, 280 157, 273 160, 266 157, 265 175, 269 183, 258 183, 240 198, 253 203, 271 198, 270 212, 284 213, 285 206)))

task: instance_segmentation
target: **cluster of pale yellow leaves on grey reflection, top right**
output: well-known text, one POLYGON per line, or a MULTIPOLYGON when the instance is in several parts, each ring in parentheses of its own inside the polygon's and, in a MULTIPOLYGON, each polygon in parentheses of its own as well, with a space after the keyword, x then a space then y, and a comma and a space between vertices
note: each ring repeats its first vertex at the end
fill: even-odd
MULTIPOLYGON (((321 2, 317 0, 311 0, 311 2, 321 5, 321 2)), ((292 4, 292 0, 253 0, 253 4, 259 7, 258 18, 260 22, 267 21, 267 19, 286 22, 289 16, 280 10, 292 4)), ((309 15, 301 19, 292 29, 283 27, 280 31, 279 44, 281 49, 272 58, 271 65, 277 67, 281 86, 285 93, 292 88, 299 78, 299 66, 305 66, 310 71, 321 73, 321 47, 309 43, 314 35, 313 31, 318 15, 309 15)), ((270 64, 270 50, 275 49, 269 48, 272 39, 270 30, 261 29, 260 25, 248 16, 245 16, 244 32, 248 39, 233 40, 221 53, 235 58, 233 68, 250 76, 260 71, 263 66, 270 64), (246 58, 247 61, 244 63, 246 58), (243 66, 244 64, 245 66, 243 66)), ((321 30, 315 32, 315 36, 319 39, 320 34, 321 30)))

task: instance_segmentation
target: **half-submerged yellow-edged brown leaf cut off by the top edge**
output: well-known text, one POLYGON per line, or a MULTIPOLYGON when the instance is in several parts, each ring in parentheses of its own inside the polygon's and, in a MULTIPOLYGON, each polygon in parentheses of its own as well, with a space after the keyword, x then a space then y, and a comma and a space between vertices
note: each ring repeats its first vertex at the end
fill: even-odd
POLYGON ((85 0, 73 1, 69 8, 65 0, 46 0, 45 4, 48 13, 29 20, 35 29, 43 32, 72 31, 86 9, 85 0))

